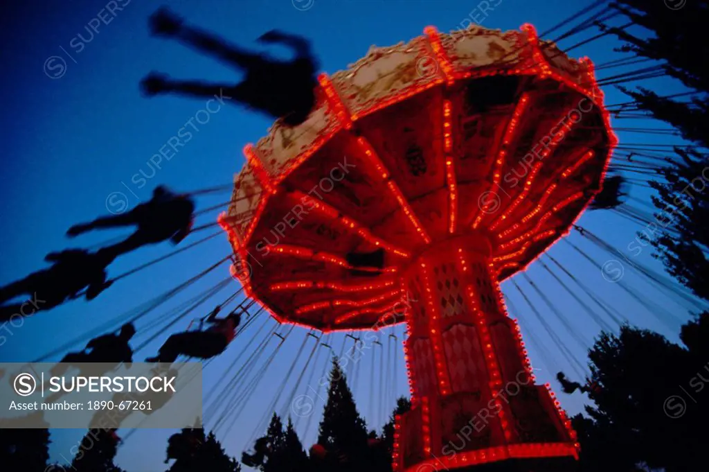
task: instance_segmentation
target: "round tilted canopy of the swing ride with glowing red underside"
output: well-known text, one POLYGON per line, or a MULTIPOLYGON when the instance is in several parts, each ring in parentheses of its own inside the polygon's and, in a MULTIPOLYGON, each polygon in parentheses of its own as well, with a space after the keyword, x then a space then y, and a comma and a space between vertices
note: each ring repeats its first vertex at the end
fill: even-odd
POLYGON ((301 126, 246 146, 220 224, 247 294, 282 322, 376 329, 430 244, 478 232, 502 280, 562 237, 617 140, 591 61, 521 30, 372 47, 320 77, 301 126))

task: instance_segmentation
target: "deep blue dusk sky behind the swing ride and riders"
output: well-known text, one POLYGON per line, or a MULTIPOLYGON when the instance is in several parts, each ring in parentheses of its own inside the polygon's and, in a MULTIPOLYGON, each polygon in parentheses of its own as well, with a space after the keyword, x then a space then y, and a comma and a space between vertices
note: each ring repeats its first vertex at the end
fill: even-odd
MULTIPOLYGON (((151 70, 169 73, 172 77, 213 79, 215 82, 235 80, 238 76, 209 57, 201 57, 177 43, 160 38, 150 38, 147 31, 147 17, 162 4, 158 0, 116 0, 123 10, 115 11, 115 17, 101 13, 110 23, 103 24, 98 33, 91 36, 86 25, 99 15, 104 2, 89 0, 40 1, 25 0, 12 2, 13 9, 0 15, 0 34, 3 35, 3 83, 1 103, 4 113, 0 118, 4 131, 2 140, 2 185, 0 205, 3 231, 0 231, 0 285, 45 267, 43 258, 50 251, 67 247, 89 247, 127 231, 101 231, 87 234, 74 241, 65 238, 65 231, 78 221, 93 219, 106 214, 107 205, 121 204, 121 195, 134 207, 150 198, 152 189, 159 184, 176 190, 199 190, 229 184, 233 174, 242 167, 241 149, 245 143, 255 142, 262 136, 269 120, 257 114, 248 113, 237 106, 223 106, 209 116, 206 124, 196 124, 189 143, 179 149, 179 153, 160 163, 160 169, 150 167, 149 159, 159 153, 169 138, 205 107, 201 99, 182 97, 141 97, 138 82, 151 70), (112 20, 110 18, 113 18, 112 20), (82 34, 82 39, 77 36, 82 34), (52 56, 56 57, 49 60, 52 56), (50 78, 62 72, 62 61, 66 69, 62 77, 50 78), (46 67, 45 67, 46 66, 46 67), (44 69, 44 70, 43 70, 44 69), (47 73, 45 73, 47 72, 47 73), (143 175, 141 175, 143 172, 143 175), (121 195, 115 192, 121 192, 121 195)), ((169 6, 188 18, 189 22, 224 35, 235 43, 257 48, 255 38, 272 28, 305 35, 313 41, 314 48, 325 72, 335 72, 354 62, 367 53, 370 45, 392 45, 400 40, 409 40, 422 33, 424 26, 434 25, 441 31, 458 28, 461 23, 478 21, 482 26, 516 29, 529 22, 538 31, 554 26, 591 1, 581 0, 491 0, 497 6, 487 12, 487 16, 476 9, 478 2, 459 0, 193 0, 171 1, 169 6), (313 3, 306 11, 299 8, 313 3)), ((668 11, 671 14, 671 11, 668 11)), ((94 24, 96 22, 94 21, 94 24)), ((566 30, 564 30, 566 31, 566 30)), ((594 32, 587 31, 581 38, 588 38, 594 32)), ((552 37, 559 31, 552 33, 552 37)), ((572 38, 571 41, 575 41, 572 38)), ((562 47, 573 43, 566 40, 562 47)), ((595 41, 574 50, 576 57, 588 55, 594 62, 608 62, 622 57, 613 52, 618 46, 613 38, 595 41)), ((608 77, 623 70, 605 70, 600 77, 608 77)), ((643 83, 661 94, 679 90, 669 79, 654 79, 643 83)), ((606 89, 606 103, 628 101, 615 89, 606 89)), ((211 105, 214 109, 214 105, 211 105)), ((203 121, 203 119, 202 119, 203 121)), ((657 126, 666 124, 652 121, 623 120, 619 126, 657 126)), ((618 125, 618 121, 615 121, 618 125)), ((644 135, 618 133, 621 143, 662 142, 658 138, 644 138, 644 135), (639 137, 640 136, 640 137, 639 137), (655 141, 653 141, 655 140, 655 141)), ((672 141, 669 141, 672 142, 672 141)), ((198 209, 211 207, 228 200, 230 192, 199 197, 198 209)), ((633 188, 632 196, 649 202, 647 190, 633 188)), ((637 205, 637 204, 636 204, 637 205)), ((115 208, 115 207, 114 207, 115 208)), ((216 219, 218 212, 201 214, 196 225, 206 224, 216 219)), ((586 214, 579 221, 617 248, 627 248, 640 227, 615 214, 586 214)), ((208 230, 190 236, 184 243, 207 236, 208 230)), ((573 234, 571 240, 591 257, 608 260, 607 254, 598 251, 588 241, 573 234)), ((183 244, 184 244, 183 243, 183 244)), ((152 260, 172 251, 169 244, 142 248, 135 253, 121 257, 111 265, 110 275, 115 276, 130 270, 147 260, 152 260)), ((190 251, 154 265, 131 277, 116 282, 94 302, 83 300, 65 304, 62 307, 43 312, 26 319, 22 326, 11 328, 11 334, 3 333, 6 342, 0 347, 0 361, 31 361, 52 351, 68 339, 89 331, 108 319, 128 311, 150 300, 157 294, 169 290, 192 275, 201 272, 230 250, 226 238, 218 236, 196 246, 190 251)), ((677 341, 679 321, 670 326, 661 324, 646 308, 632 300, 618 285, 605 282, 601 273, 575 253, 566 243, 554 246, 550 253, 560 260, 577 278, 583 280, 603 299, 627 316, 630 322, 654 329, 677 341)), ((635 259, 661 267, 644 251, 635 259)), ((679 319, 687 319, 685 307, 675 304, 660 292, 654 290, 640 275, 625 265, 623 281, 640 292, 652 303, 661 304, 676 314, 679 319)), ((578 304, 554 282, 538 263, 527 271, 537 285, 547 292, 554 305, 573 319, 574 328, 589 346, 593 336, 598 334, 598 326, 581 310, 578 304)), ((226 266, 210 273, 199 283, 189 287, 182 295, 170 300, 156 314, 165 314, 172 307, 184 303, 203 290, 216 285, 227 277, 226 266)), ((519 277, 518 283, 525 287, 532 300, 540 303, 530 290, 527 282, 519 277)), ((568 280, 567 280, 568 282, 568 280)), ((209 300, 199 314, 222 301, 237 290, 236 282, 209 300)), ((510 297, 518 312, 527 339, 532 363, 541 370, 537 377, 542 381, 552 381, 557 371, 573 374, 571 366, 559 353, 557 346, 510 282, 503 284, 503 292, 510 297), (533 336, 530 337, 529 331, 533 336)), ((540 311, 549 314, 542 304, 540 311)), ((155 315, 153 317, 155 319, 155 315)), ((185 329, 191 317, 181 320, 170 328, 172 331, 185 329)), ((574 352, 576 358, 584 361, 586 346, 571 339, 564 326, 549 314, 549 324, 559 333, 574 352)), ((262 322, 257 320, 250 331, 234 346, 206 368, 205 388, 219 378, 228 375, 226 371, 241 351, 250 334, 255 333, 262 322)), ((271 326, 270 324, 268 325, 271 326)), ((140 331, 141 325, 138 325, 140 331)), ((402 339, 403 329, 396 328, 402 339)), ((280 388, 281 380, 291 367, 305 331, 294 330, 279 355, 257 386, 252 399, 243 409, 238 423, 218 430, 218 437, 230 454, 240 456, 245 444, 259 430, 255 427, 267 412, 268 405, 280 388)), ((155 330, 150 334, 155 334, 155 330)), ((149 336, 138 336, 134 346, 149 336)), ((143 360, 152 355, 167 332, 157 336, 135 358, 143 360)), ((339 350, 342 334, 334 336, 333 346, 339 350)), ((273 341, 272 341, 273 342, 273 341)), ((308 341, 312 343, 312 341, 308 341)), ((274 343, 275 344, 275 343, 274 343)), ((386 346, 386 341, 384 341, 386 346)), ((305 355, 312 344, 306 346, 305 355)), ((82 346, 77 346, 81 348, 82 346)), ((372 351, 365 351, 362 360, 354 367, 357 374, 357 403, 365 415, 369 427, 379 429, 384 422, 381 411, 386 415, 393 407, 393 393, 386 395, 387 402, 381 405, 384 387, 380 388, 379 378, 381 353, 372 359, 372 351), (372 372, 372 366, 375 371, 372 372), (370 402, 369 385, 374 380, 374 404, 370 402)), ((50 360, 58 360, 55 356, 50 360)), ((305 356, 301 357, 303 362, 305 356)), ((390 361, 393 359, 390 358, 390 361)), ((311 385, 317 385, 317 378, 324 366, 325 356, 318 358, 316 374, 311 385)), ((406 375, 403 371, 403 353, 398 353, 396 367, 396 394, 408 392, 406 375)), ((242 362, 239 364, 241 365, 242 362)), ((296 368, 296 375, 300 371, 296 368)), ((352 373, 353 371, 348 371, 352 373)), ((308 371, 309 375, 309 371, 308 371)), ((393 373, 390 373, 393 378, 393 373)), ((576 375, 573 375, 576 377, 576 375)), ((305 390, 303 379, 301 388, 305 390)), ((292 381, 292 380, 291 380, 292 381)), ((555 385, 555 383, 554 383, 555 385)), ((389 389, 391 390, 391 389, 389 389)), ((290 390, 286 388, 279 402, 279 410, 290 390)), ((564 407, 574 414, 581 411, 584 397, 580 395, 562 397, 564 407)), ((322 404, 316 412, 320 413, 322 404)), ((269 413, 270 414, 270 413, 269 413)), ((312 420, 306 447, 315 441, 318 417, 312 420)), ((301 435, 306 421, 298 422, 301 435)), ((210 426, 208 422, 208 427, 210 426)), ((128 472, 162 471, 166 439, 173 431, 141 430, 131 434, 121 446, 117 463, 128 472)), ((125 437, 128 432, 119 432, 125 437)), ((52 430, 52 461, 64 462, 70 459, 69 449, 76 444, 84 432, 74 430, 52 430)))

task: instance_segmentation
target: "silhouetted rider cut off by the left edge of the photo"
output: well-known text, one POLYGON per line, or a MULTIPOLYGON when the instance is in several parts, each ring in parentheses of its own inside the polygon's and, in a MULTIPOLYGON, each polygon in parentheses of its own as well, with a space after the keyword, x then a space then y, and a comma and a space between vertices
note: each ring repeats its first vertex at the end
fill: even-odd
POLYGON ((104 252, 89 253, 84 249, 67 249, 45 256, 52 267, 28 275, 22 280, 0 288, 0 304, 20 295, 30 295, 31 302, 0 307, 0 322, 13 314, 31 316, 36 311, 52 309, 67 300, 81 296, 86 288, 86 300, 93 300, 113 282, 106 281, 106 267, 113 261, 104 252), (26 311, 26 305, 33 309, 26 311))

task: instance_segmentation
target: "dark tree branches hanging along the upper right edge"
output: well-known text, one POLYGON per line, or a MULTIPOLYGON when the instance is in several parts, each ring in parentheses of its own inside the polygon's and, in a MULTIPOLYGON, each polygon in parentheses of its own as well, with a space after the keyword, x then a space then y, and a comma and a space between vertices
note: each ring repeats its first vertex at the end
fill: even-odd
POLYGON ((632 23, 649 33, 641 38, 610 28, 626 43, 620 50, 661 61, 666 75, 678 79, 688 92, 697 92, 691 99, 666 98, 643 87, 621 87, 637 102, 638 109, 671 124, 698 146, 675 148, 671 165, 659 171, 666 182, 651 182, 659 192, 659 198, 653 198, 659 209, 657 225, 643 233, 668 272, 698 297, 709 300, 709 175, 705 171, 709 166, 709 48, 697 47, 706 42, 709 4, 687 1, 673 10, 661 1, 619 0, 618 4, 632 23))

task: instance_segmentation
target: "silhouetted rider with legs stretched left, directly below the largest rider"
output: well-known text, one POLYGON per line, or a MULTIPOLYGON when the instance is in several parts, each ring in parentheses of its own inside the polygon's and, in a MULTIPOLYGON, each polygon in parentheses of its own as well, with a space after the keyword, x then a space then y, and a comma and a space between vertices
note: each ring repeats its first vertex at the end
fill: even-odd
POLYGON ((160 243, 166 239, 177 244, 189 234, 194 219, 194 202, 187 195, 174 194, 160 185, 152 192, 149 202, 142 203, 124 214, 101 216, 89 223, 69 228, 67 235, 77 236, 97 228, 138 226, 125 241, 101 249, 113 260, 121 254, 134 251, 146 244, 160 243))

